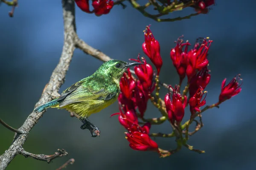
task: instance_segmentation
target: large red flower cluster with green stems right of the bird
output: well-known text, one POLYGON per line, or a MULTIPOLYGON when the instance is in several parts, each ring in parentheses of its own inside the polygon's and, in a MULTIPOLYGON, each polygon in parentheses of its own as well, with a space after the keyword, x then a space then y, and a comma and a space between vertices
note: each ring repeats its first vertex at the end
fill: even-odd
MULTIPOLYGON (((204 3, 206 3, 206 1, 204 1, 204 3)), ((218 107, 221 102, 239 94, 241 91, 241 84, 239 83, 239 80, 241 80, 240 74, 234 77, 227 85, 226 79, 224 79, 221 85, 221 93, 218 102, 201 109, 201 107, 206 105, 207 91, 204 89, 211 79, 208 69, 209 60, 207 57, 212 40, 209 40, 209 38, 198 38, 195 45, 189 50, 189 46, 191 46, 189 41, 183 42, 181 37, 179 37, 175 42, 176 46, 170 51, 170 57, 180 77, 180 81, 174 88, 171 85, 165 85, 169 92, 162 100, 159 97, 159 74, 163 65, 160 55, 160 45, 159 42, 155 40, 150 26, 146 27, 144 36, 145 42, 143 42, 142 48, 157 69, 157 75, 154 75, 153 68, 146 62, 146 59, 144 57, 140 58, 140 54, 137 59, 131 59, 143 64, 134 67, 134 74, 137 78, 135 75, 131 74, 129 69, 121 78, 121 93, 118 97, 119 113, 113 115, 119 115, 118 119, 120 124, 128 130, 125 136, 130 143, 129 146, 134 150, 157 151, 163 157, 175 153, 180 149, 181 145, 193 150, 192 147, 187 144, 188 137, 183 138, 183 134, 185 134, 185 136, 194 134, 202 127, 202 123, 201 125, 197 123, 194 133, 188 132, 189 125, 197 116, 200 116, 201 113, 209 108, 218 107), (181 93, 180 86, 185 78, 187 78, 187 85, 181 93), (149 99, 153 105, 159 109, 163 117, 152 119, 144 118, 149 99), (190 119, 182 125, 181 122, 185 115, 185 108, 188 105, 190 109, 190 119), (141 119, 144 125, 140 126, 138 119, 141 119), (157 122, 158 119, 161 119, 161 121, 157 122), (161 124, 165 120, 169 120, 171 123, 173 127, 172 133, 149 134, 151 125, 161 124), (158 147, 156 142, 150 139, 150 136, 176 136, 176 142, 179 144, 177 144, 176 150, 162 150, 158 147)), ((164 85, 165 83, 161 84, 164 85)), ((195 122, 198 121, 195 120, 195 122)), ((201 150, 194 151, 204 153, 201 150)))

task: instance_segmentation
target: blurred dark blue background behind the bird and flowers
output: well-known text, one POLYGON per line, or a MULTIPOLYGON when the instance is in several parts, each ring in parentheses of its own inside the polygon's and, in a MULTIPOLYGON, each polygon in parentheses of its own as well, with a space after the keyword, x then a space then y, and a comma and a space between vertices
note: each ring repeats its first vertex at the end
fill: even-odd
MULTIPOLYGON (((143 1, 141 1, 143 3, 143 1)), ((253 86, 256 84, 256 21, 253 10, 256 2, 247 0, 216 0, 209 14, 201 14, 189 20, 157 23, 143 17, 139 11, 114 6, 110 14, 96 17, 86 14, 76 6, 77 32, 81 39, 114 59, 128 61, 143 54, 143 30, 152 24, 154 37, 160 42, 163 68, 160 81, 175 85, 178 76, 169 53, 180 35, 192 44, 198 37, 210 37, 209 50, 211 82, 207 86, 207 104, 217 102, 221 82, 229 82, 236 74, 244 79, 238 96, 227 100, 220 108, 203 113, 204 127, 192 136, 189 144, 205 150, 205 154, 191 152, 186 148, 160 159, 157 153, 132 150, 125 139, 125 129, 117 117, 115 102, 109 108, 90 116, 101 130, 100 137, 90 137, 88 130, 81 130, 81 122, 71 118, 64 110, 48 109, 32 129, 24 145, 31 153, 53 154, 58 148, 68 152, 47 164, 18 155, 7 170, 53 170, 70 158, 76 161, 68 170, 122 170, 179 169, 179 170, 253 170, 256 165, 256 111, 253 86), (253 168, 254 167, 254 168, 253 168)), ((13 18, 8 16, 11 8, 0 6, 0 117, 18 128, 25 121, 56 64, 63 45, 63 19, 61 2, 44 0, 19 1, 13 18)), ((192 8, 174 12, 170 17, 185 16, 192 8)), ((144 56, 144 54, 142 55, 144 56)), ((149 59, 148 59, 149 62, 149 59)), ((61 91, 74 82, 93 74, 102 62, 76 49, 61 91)), ((161 88, 163 97, 166 89, 161 88)), ((186 112, 186 118, 189 116, 186 112)), ((158 117, 160 113, 148 102, 146 118, 158 117)), ((170 133, 169 123, 153 126, 151 132, 170 133)), ((0 125, 0 154, 7 150, 14 133, 0 125)), ((174 139, 154 139, 161 148, 175 149, 174 139)))

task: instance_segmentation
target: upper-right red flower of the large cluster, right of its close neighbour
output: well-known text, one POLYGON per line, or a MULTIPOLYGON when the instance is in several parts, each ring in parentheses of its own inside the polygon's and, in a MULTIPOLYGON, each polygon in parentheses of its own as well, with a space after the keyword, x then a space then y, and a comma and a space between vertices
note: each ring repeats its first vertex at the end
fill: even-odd
POLYGON ((190 80, 197 71, 201 71, 209 63, 207 59, 207 52, 212 43, 212 40, 203 39, 203 43, 199 47, 199 43, 195 44, 195 48, 188 52, 188 65, 186 68, 186 75, 190 80), (198 48, 198 49, 197 49, 198 48))

